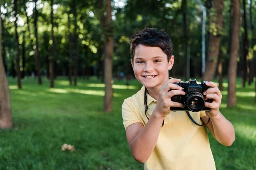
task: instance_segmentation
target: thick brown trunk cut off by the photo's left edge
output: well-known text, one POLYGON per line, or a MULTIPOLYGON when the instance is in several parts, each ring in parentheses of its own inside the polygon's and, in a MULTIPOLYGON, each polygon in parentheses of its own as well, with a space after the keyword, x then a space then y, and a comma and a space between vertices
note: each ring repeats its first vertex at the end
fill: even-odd
MULTIPOLYGON (((0 0, 1 4, 1 0, 0 0)), ((1 12, 0 12, 1 14, 1 12)), ((0 17, 0 32, 2 29, 2 18, 0 17)), ((11 97, 9 91, 9 84, 6 77, 6 72, 2 60, 2 34, 0 34, 0 127, 12 127, 12 111, 11 111, 11 97)))

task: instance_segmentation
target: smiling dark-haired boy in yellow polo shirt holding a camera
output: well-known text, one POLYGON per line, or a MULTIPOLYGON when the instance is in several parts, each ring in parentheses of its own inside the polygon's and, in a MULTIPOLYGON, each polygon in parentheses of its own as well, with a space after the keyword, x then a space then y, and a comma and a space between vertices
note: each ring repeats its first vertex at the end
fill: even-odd
MULTIPOLYGON (((173 64, 172 42, 165 32, 146 28, 131 38, 131 65, 143 84, 122 105, 131 154, 145 163, 145 170, 215 170, 206 127, 195 125, 185 111, 170 111, 170 107, 184 107, 171 97, 185 95, 174 84, 180 79, 169 79, 173 64)), ((207 124, 210 118, 209 131, 218 142, 230 146, 235 132, 219 111, 221 92, 214 82, 206 85, 212 87, 204 92, 205 99, 213 99, 205 103, 210 111, 189 113, 198 124, 207 124)))

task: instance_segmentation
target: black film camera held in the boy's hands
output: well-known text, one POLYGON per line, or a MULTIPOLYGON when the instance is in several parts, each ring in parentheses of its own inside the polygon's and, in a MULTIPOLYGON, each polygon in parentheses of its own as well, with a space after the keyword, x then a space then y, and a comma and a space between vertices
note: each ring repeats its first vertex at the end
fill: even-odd
MULTIPOLYGON (((204 91, 210 86, 205 85, 207 81, 197 83, 196 79, 189 82, 176 82, 175 85, 182 87, 182 91, 185 91, 185 95, 175 95, 171 97, 173 102, 179 102, 185 105, 184 108, 171 107, 171 111, 209 111, 210 108, 205 107, 205 102, 212 102, 212 99, 204 99, 204 91)), ((172 89, 171 89, 172 90, 172 89)), ((170 90, 170 91, 171 91, 170 90)))

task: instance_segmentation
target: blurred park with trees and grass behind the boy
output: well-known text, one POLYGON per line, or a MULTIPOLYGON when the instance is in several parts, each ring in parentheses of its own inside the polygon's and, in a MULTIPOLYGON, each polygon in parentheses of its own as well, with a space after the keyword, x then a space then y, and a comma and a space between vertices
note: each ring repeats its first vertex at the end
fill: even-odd
MULTIPOLYGON (((256 169, 256 0, 0 0, 0 169, 137 170, 121 106, 142 85, 130 39, 164 29, 171 77, 218 84, 236 141, 217 170, 256 169)), ((198 141, 200 142, 200 141, 198 141)))

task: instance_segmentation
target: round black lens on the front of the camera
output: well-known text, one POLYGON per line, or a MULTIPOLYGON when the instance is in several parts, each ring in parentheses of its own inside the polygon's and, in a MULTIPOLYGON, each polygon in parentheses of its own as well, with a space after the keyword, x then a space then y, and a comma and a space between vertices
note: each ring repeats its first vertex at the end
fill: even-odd
POLYGON ((204 96, 199 92, 190 92, 186 96, 186 106, 192 112, 201 111, 204 108, 204 96))

